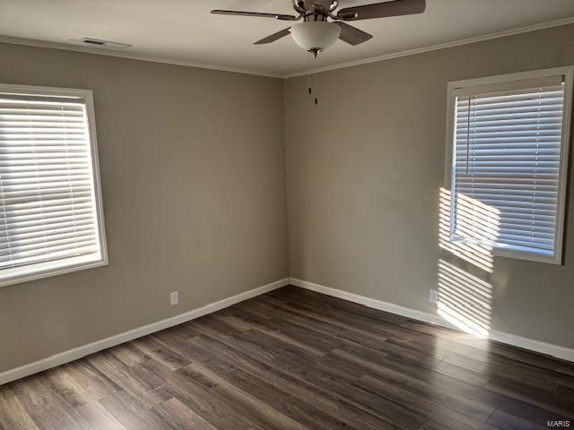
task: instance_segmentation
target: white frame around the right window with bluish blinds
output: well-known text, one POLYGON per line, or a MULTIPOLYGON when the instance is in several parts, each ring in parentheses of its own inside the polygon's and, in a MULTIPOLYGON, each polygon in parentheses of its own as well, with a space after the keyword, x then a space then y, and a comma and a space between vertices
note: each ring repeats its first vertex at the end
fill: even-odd
MULTIPOLYGON (((562 264, 562 250, 564 242, 564 222, 565 212, 567 205, 567 190, 568 190, 568 168, 569 168, 569 152, 570 152, 570 121, 572 117, 572 88, 574 79, 574 65, 567 65, 561 67, 552 67, 547 69, 532 70, 527 72, 498 74, 493 76, 486 76, 482 78, 465 79, 462 81, 448 82, 447 87, 447 145, 446 145, 446 168, 445 168, 445 189, 452 193, 452 185, 454 178, 454 163, 453 154, 455 150, 455 109, 457 108, 455 90, 465 87, 474 87, 479 85, 491 85, 497 83, 511 83, 526 79, 536 79, 544 77, 552 77, 557 75, 564 76, 564 109, 562 113, 562 134, 561 134, 561 158, 560 158, 560 171, 559 171, 559 184, 558 184, 558 202, 556 207, 556 228, 554 236, 554 252, 552 255, 535 254, 528 251, 520 251, 517 249, 503 248, 491 244, 478 244, 488 245, 491 248, 491 254, 500 257, 509 257, 519 260, 526 260, 531 262, 547 262, 552 264, 562 264)), ((455 226, 455 213, 452 210, 455 199, 451 198, 450 207, 450 231, 449 242, 452 243, 474 243, 475 241, 465 240, 454 236, 453 228, 455 226)))

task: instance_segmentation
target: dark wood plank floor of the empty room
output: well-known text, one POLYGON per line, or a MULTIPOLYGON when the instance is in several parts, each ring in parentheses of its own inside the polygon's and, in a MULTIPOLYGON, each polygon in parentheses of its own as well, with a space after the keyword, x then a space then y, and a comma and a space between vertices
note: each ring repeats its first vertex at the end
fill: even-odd
POLYGON ((538 429, 574 365, 287 287, 0 387, 0 428, 538 429))

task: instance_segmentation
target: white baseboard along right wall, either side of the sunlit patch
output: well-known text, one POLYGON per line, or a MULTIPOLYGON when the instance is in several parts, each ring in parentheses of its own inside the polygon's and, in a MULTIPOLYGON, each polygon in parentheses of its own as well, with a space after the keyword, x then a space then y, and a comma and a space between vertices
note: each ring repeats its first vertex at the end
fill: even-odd
MULTIPOLYGON (((360 296, 342 289, 326 287, 307 280, 291 278, 291 285, 317 291, 317 293, 323 293, 327 296, 343 298, 344 300, 349 300, 350 302, 372 307, 381 311, 390 312, 391 314, 403 315, 407 318, 412 318, 413 320, 422 321, 423 323, 431 323, 442 327, 448 327, 449 329, 459 330, 453 324, 448 323, 448 321, 442 318, 439 314, 416 311, 408 307, 383 302, 376 298, 360 296)), ((490 331, 488 339, 574 362, 574 349, 552 345, 550 343, 541 342, 540 340, 523 338, 514 334, 504 333, 502 331, 490 331)))

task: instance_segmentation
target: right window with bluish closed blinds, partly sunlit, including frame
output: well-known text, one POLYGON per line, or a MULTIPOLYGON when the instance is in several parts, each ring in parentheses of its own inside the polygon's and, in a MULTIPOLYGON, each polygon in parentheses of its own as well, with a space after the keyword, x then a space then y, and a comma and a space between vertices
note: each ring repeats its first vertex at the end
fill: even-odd
POLYGON ((449 82, 451 241, 561 263, 572 70, 449 82))

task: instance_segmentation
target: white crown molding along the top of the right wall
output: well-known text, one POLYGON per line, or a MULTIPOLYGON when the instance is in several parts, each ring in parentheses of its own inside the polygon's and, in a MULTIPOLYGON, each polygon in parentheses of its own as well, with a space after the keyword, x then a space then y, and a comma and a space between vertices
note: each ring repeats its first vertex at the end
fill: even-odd
MULTIPOLYGON (((439 43, 437 45, 429 45, 428 47, 416 47, 414 49, 407 49, 405 51, 392 52, 390 54, 385 54, 383 56, 371 56, 370 58, 363 58, 361 60, 349 61, 346 63, 338 63, 332 65, 326 65, 324 67, 319 67, 316 69, 317 73, 328 72, 330 70, 344 69, 346 67, 352 67, 354 65, 377 63, 378 61, 390 60, 392 58, 399 58, 401 56, 413 56, 415 54, 422 54, 424 52, 436 51, 438 49, 444 49, 447 47, 460 47, 462 45, 468 45, 470 43, 482 42, 484 40, 499 39, 507 36, 514 36, 516 34, 527 33, 530 31, 544 30, 552 27, 560 27, 561 25, 567 25, 574 23, 574 16, 569 16, 567 18, 562 18, 560 20, 539 22, 537 24, 526 25, 524 27, 517 27, 511 30, 496 31, 494 33, 483 34, 481 36, 474 36, 473 38, 458 39, 450 42, 439 43)), ((297 76, 305 76, 309 72, 303 70, 300 72, 287 73, 283 75, 283 79, 295 78, 297 76)))

